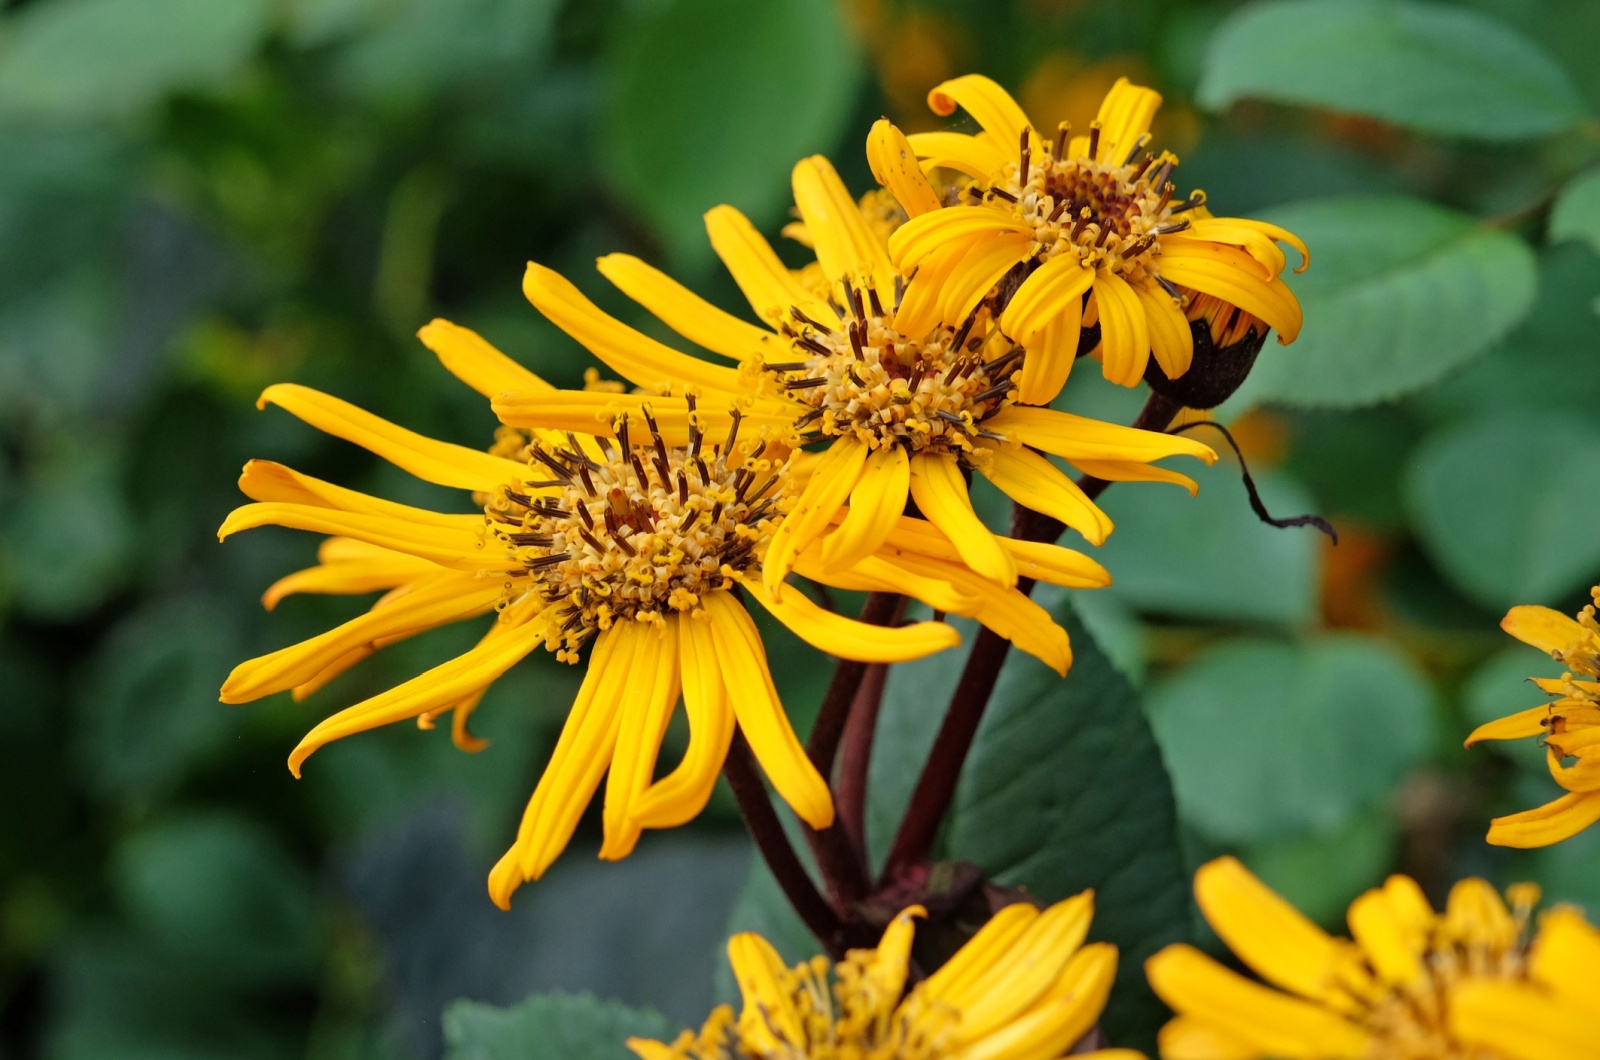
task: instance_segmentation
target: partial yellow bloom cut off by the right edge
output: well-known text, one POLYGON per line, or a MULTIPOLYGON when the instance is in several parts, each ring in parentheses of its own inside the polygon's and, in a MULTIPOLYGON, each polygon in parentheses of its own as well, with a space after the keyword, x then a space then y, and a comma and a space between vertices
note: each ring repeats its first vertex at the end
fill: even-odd
POLYGON ((1557 698, 1478 725, 1467 737, 1467 746, 1480 740, 1539 737, 1550 777, 1566 794, 1539 809, 1490 821, 1488 839, 1498 847, 1547 847, 1600 821, 1600 621, 1595 618, 1600 586, 1590 592, 1595 602, 1576 620, 1531 604, 1510 608, 1501 620, 1501 629, 1547 652, 1566 666, 1566 673, 1554 679, 1530 677, 1557 698), (1576 761, 1565 765, 1570 757, 1576 761))

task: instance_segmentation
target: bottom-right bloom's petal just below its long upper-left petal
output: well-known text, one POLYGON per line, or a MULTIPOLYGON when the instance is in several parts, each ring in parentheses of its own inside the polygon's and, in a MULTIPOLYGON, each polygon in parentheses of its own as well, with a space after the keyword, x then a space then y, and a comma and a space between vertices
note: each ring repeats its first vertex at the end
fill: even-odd
POLYGON ((1366 1031, 1309 1001, 1280 994, 1230 972, 1189 945, 1144 962, 1155 994, 1179 1015, 1226 1026, 1256 1055, 1278 1060, 1360 1060, 1366 1031))

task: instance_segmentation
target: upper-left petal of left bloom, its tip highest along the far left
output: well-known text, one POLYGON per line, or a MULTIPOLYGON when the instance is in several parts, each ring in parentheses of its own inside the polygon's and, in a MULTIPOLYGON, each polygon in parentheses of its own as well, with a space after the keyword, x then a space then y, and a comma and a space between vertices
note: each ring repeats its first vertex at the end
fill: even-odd
POLYGON ((309 386, 294 383, 269 386, 256 399, 256 408, 267 405, 277 405, 325 434, 354 442, 424 482, 462 490, 498 490, 522 472, 522 464, 517 461, 397 428, 381 416, 309 386))

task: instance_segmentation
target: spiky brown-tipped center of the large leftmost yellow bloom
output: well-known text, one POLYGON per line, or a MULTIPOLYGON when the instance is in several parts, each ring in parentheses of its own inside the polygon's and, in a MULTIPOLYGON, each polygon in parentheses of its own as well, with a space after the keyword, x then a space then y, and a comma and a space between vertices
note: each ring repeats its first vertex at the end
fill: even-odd
MULTIPOLYGON (((510 557, 504 604, 538 592, 563 620, 568 661, 595 629, 621 620, 661 621, 733 584, 758 560, 778 517, 782 464, 765 442, 739 442, 739 415, 722 445, 669 447, 648 407, 650 445, 568 434, 568 445, 528 442, 530 477, 483 508, 510 557), (587 445, 586 445, 587 442, 587 445)), ((693 420, 693 415, 691 415, 693 420)))

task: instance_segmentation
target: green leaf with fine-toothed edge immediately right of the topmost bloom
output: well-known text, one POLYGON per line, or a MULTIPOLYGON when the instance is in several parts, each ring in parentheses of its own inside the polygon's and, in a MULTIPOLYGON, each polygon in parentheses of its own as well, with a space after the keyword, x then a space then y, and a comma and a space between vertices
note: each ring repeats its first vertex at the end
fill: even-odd
POLYGON ((1269 346, 1235 402, 1371 405, 1472 360, 1533 304, 1533 251, 1515 235, 1400 197, 1323 199, 1267 211, 1306 240, 1286 282, 1306 311, 1294 344, 1269 346))

